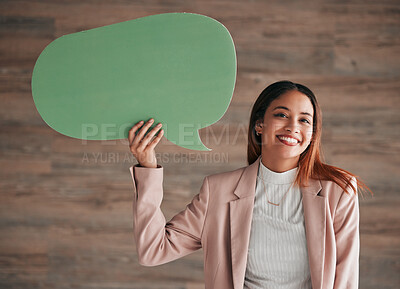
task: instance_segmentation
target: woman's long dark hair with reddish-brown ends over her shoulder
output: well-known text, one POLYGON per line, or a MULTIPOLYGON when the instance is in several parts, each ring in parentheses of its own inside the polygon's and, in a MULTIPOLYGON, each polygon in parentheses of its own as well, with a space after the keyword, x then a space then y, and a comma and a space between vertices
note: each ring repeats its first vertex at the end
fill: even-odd
POLYGON ((248 131, 247 161, 248 164, 254 163, 261 155, 261 135, 257 136, 255 125, 258 120, 263 121, 266 110, 271 102, 286 92, 297 90, 305 94, 311 101, 314 108, 313 134, 308 147, 300 154, 299 171, 295 184, 307 186, 310 178, 329 180, 339 185, 347 194, 357 194, 357 187, 360 191, 372 191, 359 180, 358 176, 344 169, 328 165, 323 162, 321 154, 321 135, 322 135, 322 112, 314 93, 306 86, 288 80, 275 82, 266 87, 253 105, 248 131), (352 183, 352 178, 356 179, 356 185, 352 183), (351 190, 349 189, 351 188, 351 190))

